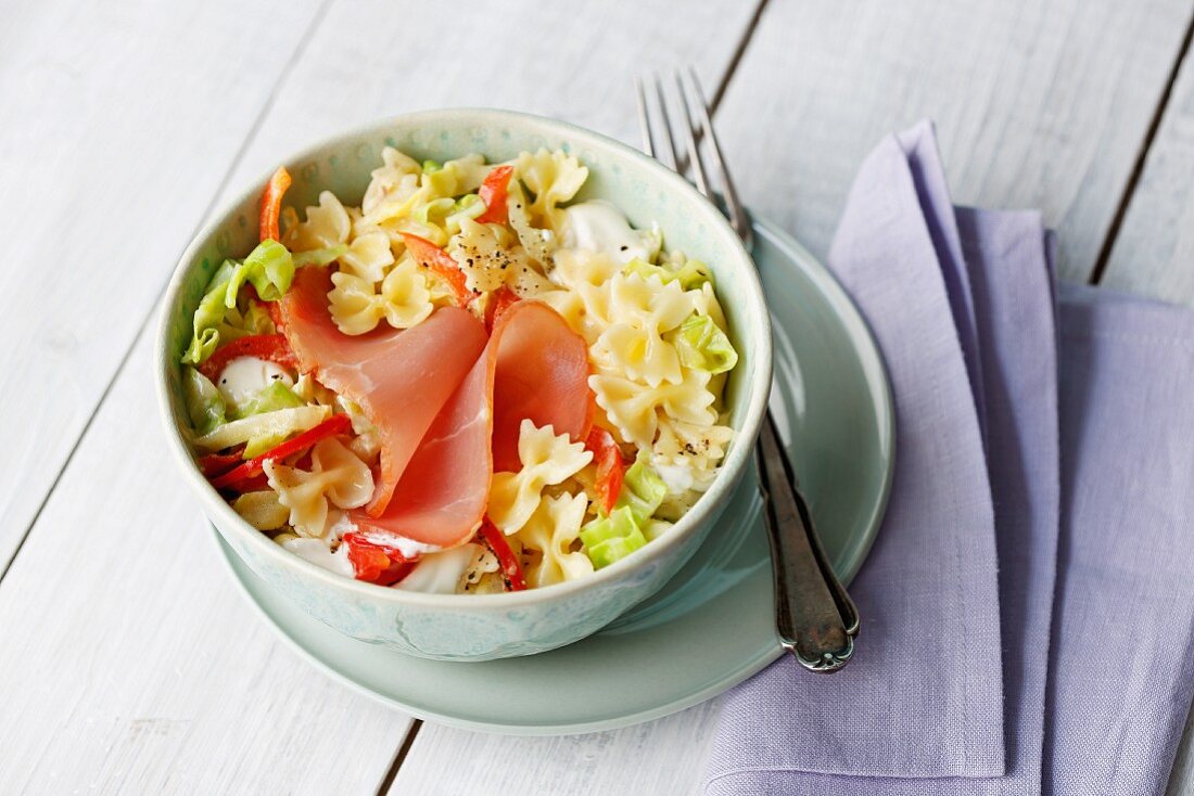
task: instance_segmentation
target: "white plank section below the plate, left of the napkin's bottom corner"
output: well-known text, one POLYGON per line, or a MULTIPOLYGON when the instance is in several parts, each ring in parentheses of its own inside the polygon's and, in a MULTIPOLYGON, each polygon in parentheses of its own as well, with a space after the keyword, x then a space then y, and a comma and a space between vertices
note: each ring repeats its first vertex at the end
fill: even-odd
POLYGON ((718 704, 638 727, 562 738, 462 734, 424 724, 388 792, 695 794, 718 704))

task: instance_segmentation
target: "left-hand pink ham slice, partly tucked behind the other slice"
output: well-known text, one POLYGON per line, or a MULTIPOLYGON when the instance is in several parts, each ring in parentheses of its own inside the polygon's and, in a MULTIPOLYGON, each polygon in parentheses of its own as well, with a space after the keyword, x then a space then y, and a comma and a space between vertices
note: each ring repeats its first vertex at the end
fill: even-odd
POLYGON ((485 350, 485 326, 445 307, 406 331, 350 337, 328 313, 331 289, 326 269, 300 269, 281 302, 283 333, 300 369, 357 403, 377 427, 381 467, 365 511, 381 514, 419 442, 485 350))

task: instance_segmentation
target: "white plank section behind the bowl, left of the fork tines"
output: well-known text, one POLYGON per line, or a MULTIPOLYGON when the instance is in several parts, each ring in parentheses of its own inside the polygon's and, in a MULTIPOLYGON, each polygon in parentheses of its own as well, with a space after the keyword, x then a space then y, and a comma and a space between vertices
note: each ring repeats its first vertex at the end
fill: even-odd
POLYGON ((712 94, 755 10, 731 0, 689 4, 682 14, 632 0, 512 0, 500 10, 412 4, 395 14, 390 5, 332 7, 234 185, 325 135, 433 107, 538 113, 638 146, 634 78, 691 63, 712 94))

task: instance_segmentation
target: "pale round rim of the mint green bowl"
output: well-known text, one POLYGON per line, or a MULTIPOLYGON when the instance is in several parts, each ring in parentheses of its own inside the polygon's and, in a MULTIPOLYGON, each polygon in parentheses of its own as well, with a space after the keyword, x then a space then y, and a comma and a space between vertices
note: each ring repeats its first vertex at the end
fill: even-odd
MULTIPOLYGON (((771 389, 771 321, 755 263, 743 246, 741 239, 733 232, 730 222, 712 202, 702 196, 688 180, 653 158, 616 138, 570 122, 522 111, 488 107, 451 107, 414 111, 371 119, 324 136, 297 152, 279 159, 279 162, 289 166, 308 160, 318 155, 321 150, 343 143, 345 140, 375 134, 395 124, 418 127, 419 124, 450 124, 453 122, 481 124, 484 127, 497 127, 503 123, 530 125, 531 128, 538 128, 541 131, 554 132, 570 143, 583 143, 595 149, 607 150, 614 154, 615 158, 620 156, 636 162, 651 175, 653 184, 663 185, 670 193, 684 196, 689 199, 689 203, 701 214, 701 220, 709 223, 713 234, 726 239, 730 251, 737 255, 730 258, 727 267, 736 271, 736 277, 745 280, 747 306, 736 308, 734 311, 743 319, 744 326, 753 327, 753 334, 758 338, 751 340, 755 368, 752 372, 746 375, 746 385, 750 390, 746 412, 741 426, 736 430, 737 437, 726 453, 713 485, 676 522, 670 532, 653 539, 650 544, 613 564, 595 570, 592 575, 579 580, 497 594, 435 594, 380 586, 377 584, 345 578, 287 550, 241 518, 202 475, 190 446, 183 439, 179 419, 174 416, 170 397, 168 374, 171 368, 177 366, 177 363, 172 362, 172 357, 168 356, 166 341, 170 337, 171 327, 170 309, 178 301, 184 277, 197 259, 198 251, 219 233, 220 228, 227 223, 228 217, 233 215, 236 208, 257 197, 261 190, 260 186, 266 184, 276 166, 252 180, 242 191, 222 202, 195 234, 174 265, 170 284, 161 298, 161 307, 158 311, 158 322, 154 331, 154 383, 158 395, 158 414, 165 427, 167 445, 174 455, 174 459, 181 469, 184 477, 192 487, 192 492, 199 495, 203 508, 221 533, 226 529, 235 529, 233 532, 239 538, 256 547, 260 554, 277 564, 296 570, 304 578, 315 578, 334 590, 344 590, 363 598, 380 599, 420 609, 460 610, 467 606, 474 611, 503 611, 544 600, 564 599, 578 592, 595 590, 603 584, 618 581, 632 570, 645 568, 651 562, 663 559, 669 551, 681 545, 684 539, 696 531, 698 525, 709 519, 715 506, 730 499, 733 488, 751 461, 755 450, 755 439, 767 411, 771 389)), ((236 550, 238 555, 240 555, 239 544, 232 539, 229 539, 229 543, 236 550)))

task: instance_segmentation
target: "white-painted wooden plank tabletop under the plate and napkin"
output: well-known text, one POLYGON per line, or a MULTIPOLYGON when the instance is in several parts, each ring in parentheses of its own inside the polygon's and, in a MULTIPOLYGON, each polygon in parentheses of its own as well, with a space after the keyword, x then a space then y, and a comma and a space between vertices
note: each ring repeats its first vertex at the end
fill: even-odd
POLYGON ((421 724, 314 671, 229 582, 167 461, 147 321, 211 209, 310 138, 488 105, 634 141, 632 78, 693 63, 747 202, 816 253, 861 156, 929 116, 956 199, 1041 208, 1065 278, 1194 304, 1194 0, 2 0, 0 20, 2 794, 700 788, 716 701, 560 739, 421 724))

